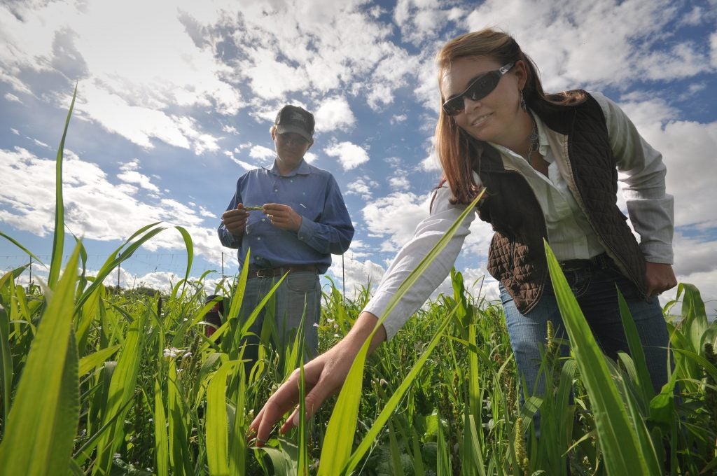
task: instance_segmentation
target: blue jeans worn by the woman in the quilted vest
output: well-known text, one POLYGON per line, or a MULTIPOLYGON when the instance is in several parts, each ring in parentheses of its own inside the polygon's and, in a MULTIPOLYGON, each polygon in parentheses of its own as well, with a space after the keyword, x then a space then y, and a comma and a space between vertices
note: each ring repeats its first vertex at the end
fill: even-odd
MULTIPOLYGON (((659 392, 668 380, 669 335, 657 297, 641 298, 637 287, 614 267, 609 258, 587 266, 563 267, 563 272, 595 340, 612 359, 617 358, 618 351, 630 353, 619 315, 617 285, 630 307, 640 335, 652 386, 659 392)), ((518 312, 503 285, 500 285, 500 300, 505 310, 505 324, 518 374, 525 379, 525 390, 531 395, 543 395, 545 382, 542 377, 538 380, 538 370, 540 346, 544 347, 547 343, 547 321, 553 321, 556 338, 567 339, 550 279, 546 282, 540 302, 525 315, 518 312)), ((568 349, 563 346, 562 351, 566 355, 568 349)))

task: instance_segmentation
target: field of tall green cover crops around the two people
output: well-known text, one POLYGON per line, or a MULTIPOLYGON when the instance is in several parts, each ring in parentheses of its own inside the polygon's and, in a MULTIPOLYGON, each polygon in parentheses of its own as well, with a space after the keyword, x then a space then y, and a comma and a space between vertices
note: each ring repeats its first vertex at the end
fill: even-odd
MULTIPOLYGON (((47 282, 17 284, 25 267, 0 277, 0 474, 717 472, 717 324, 708 322, 698 290, 680 285, 680 315, 671 315, 674 303, 665 308, 675 369, 654 394, 639 347, 617 362, 599 352, 547 248, 572 351, 559 359, 557 343, 547 343, 546 396, 521 399, 500 305, 467 294, 453 272, 453 294, 427 303, 369 358, 361 354, 341 394, 313 419, 275 434, 267 447, 250 446, 253 415, 300 366, 300 347, 282 354, 262 348, 245 371, 241 343, 253 316, 235 317, 245 275, 214 292, 230 302, 211 338, 204 334, 212 308, 204 304, 204 277, 181 280, 167 295, 105 288, 105 277, 162 232, 161 224, 138 230, 96 275, 85 272, 81 242, 63 264, 64 141, 47 282), (540 439, 532 424, 538 409, 540 439)), ((186 243, 189 276, 191 237, 174 228, 186 243)), ((0 239, 37 260, 6 234, 0 239)), ((369 293, 347 300, 327 287, 324 298, 326 349, 348 331, 369 293)), ((271 305, 271 295, 262 304, 271 305)), ((629 315, 624 322, 634 338, 629 315)))

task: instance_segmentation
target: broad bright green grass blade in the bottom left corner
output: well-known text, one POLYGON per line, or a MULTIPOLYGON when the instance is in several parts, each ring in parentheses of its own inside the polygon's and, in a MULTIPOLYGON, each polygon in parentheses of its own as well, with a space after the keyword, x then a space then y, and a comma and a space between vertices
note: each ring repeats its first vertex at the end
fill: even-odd
POLYGON ((77 349, 72 338, 78 249, 42 315, 0 444, 0 473, 53 475, 66 469, 79 418, 77 349))

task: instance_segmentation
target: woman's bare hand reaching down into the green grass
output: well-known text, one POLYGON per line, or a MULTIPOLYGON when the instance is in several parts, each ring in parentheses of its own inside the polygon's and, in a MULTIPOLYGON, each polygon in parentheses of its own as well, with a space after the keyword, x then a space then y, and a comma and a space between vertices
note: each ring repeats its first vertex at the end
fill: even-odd
MULTIPOLYGON (((306 418, 318 411, 323 402, 335 394, 346 381, 351 364, 356 359, 366 338, 376 325, 376 316, 361 313, 351 331, 336 346, 304 365, 304 384, 308 391, 305 398, 306 418)), ((381 325, 371 341, 369 352, 386 340, 386 330, 381 325)), ((299 424, 299 379, 300 369, 291 373, 287 381, 269 397, 249 426, 249 439, 255 439, 258 447, 264 446, 274 425, 291 409, 290 417, 282 424, 280 432, 285 434, 299 424)))

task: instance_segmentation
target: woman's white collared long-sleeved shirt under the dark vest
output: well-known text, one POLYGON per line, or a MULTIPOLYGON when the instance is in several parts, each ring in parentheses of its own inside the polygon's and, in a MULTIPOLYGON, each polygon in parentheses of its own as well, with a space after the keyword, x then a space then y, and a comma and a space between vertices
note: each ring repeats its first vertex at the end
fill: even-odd
MULTIPOLYGON (((640 248, 650 262, 673 262, 673 197, 665 193, 665 164, 662 155, 637 132, 630 118, 604 95, 591 92, 603 110, 610 146, 617 158, 619 181, 623 184, 630 222, 640 235, 640 248)), ((539 151, 549 163, 548 176, 543 176, 524 158, 503 146, 493 144, 503 158, 505 168, 521 173, 543 209, 551 249, 558 260, 585 259, 604 252, 587 216, 571 194, 566 172, 565 136, 554 132, 536 117, 539 151)), ((480 185, 478 174, 473 173, 480 185)), ((465 205, 451 205, 452 194, 447 186, 437 189, 430 215, 418 224, 414 237, 399 250, 384 274, 374 298, 364 310, 381 317, 391 298, 409 273, 445 234, 465 209, 465 205)), ((393 337, 404 322, 423 305, 431 293, 450 272, 475 213, 468 214, 459 229, 439 256, 432 262, 414 286, 391 310, 384 321, 388 338, 393 337)))

